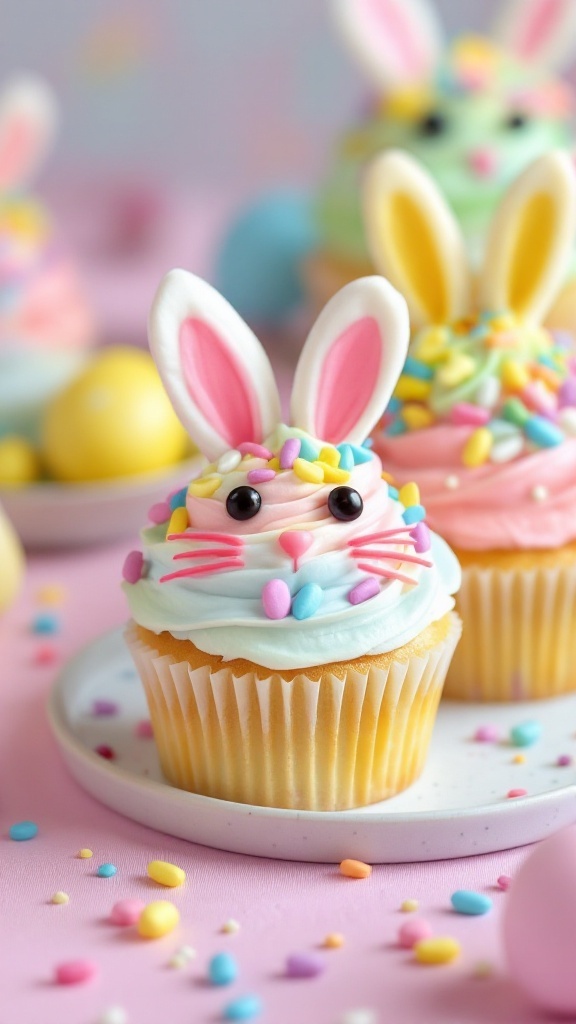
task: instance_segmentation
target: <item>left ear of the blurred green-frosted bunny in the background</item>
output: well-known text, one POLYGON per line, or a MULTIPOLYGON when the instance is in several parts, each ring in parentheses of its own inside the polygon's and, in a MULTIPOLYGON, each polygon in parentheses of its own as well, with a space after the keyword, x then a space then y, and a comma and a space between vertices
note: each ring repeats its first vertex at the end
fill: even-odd
POLYGON ((336 24, 378 89, 430 78, 443 48, 427 0, 332 0, 336 24))

